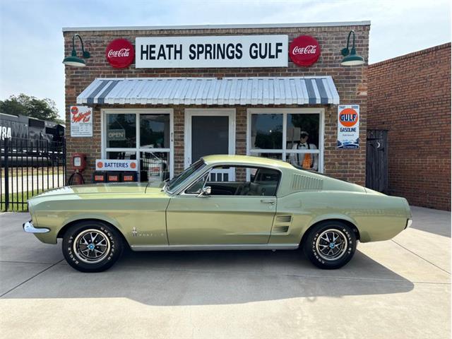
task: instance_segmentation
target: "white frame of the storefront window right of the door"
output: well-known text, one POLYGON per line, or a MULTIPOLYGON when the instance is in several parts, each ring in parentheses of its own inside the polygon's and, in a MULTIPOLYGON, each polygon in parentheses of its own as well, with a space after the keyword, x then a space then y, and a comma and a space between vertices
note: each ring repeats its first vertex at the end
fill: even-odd
POLYGON ((323 173, 323 153, 325 149, 325 109, 318 108, 249 108, 246 109, 246 155, 254 153, 276 153, 281 154, 283 161, 287 161, 291 153, 299 154, 318 154, 319 169, 317 172, 323 173), (263 149, 251 148, 251 114, 283 114, 283 148, 263 149), (287 114, 319 114, 319 148, 317 150, 292 150, 287 149, 285 141, 287 140, 287 114))

